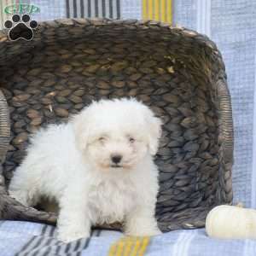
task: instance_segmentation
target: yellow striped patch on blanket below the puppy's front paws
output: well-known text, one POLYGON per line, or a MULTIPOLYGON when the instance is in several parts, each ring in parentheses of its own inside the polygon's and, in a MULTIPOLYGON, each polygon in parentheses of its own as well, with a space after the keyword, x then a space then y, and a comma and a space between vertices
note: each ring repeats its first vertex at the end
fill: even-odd
POLYGON ((125 236, 113 243, 108 256, 143 256, 148 243, 148 236, 125 236))

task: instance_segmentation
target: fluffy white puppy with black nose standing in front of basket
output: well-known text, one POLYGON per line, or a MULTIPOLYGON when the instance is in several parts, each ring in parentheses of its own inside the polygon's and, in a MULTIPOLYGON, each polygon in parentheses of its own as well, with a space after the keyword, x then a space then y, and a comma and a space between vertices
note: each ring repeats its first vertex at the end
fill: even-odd
POLYGON ((9 194, 26 206, 55 199, 58 238, 90 236, 93 224, 124 223, 129 236, 160 234, 154 218, 161 121, 135 99, 93 102, 67 124, 32 137, 9 194))

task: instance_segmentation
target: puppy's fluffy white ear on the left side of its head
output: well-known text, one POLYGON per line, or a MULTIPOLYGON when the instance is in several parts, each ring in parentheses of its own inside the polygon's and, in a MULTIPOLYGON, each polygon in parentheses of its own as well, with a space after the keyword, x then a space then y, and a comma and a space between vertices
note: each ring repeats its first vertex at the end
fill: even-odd
POLYGON ((89 138, 89 120, 86 108, 73 117, 75 142, 80 150, 85 150, 89 138))

